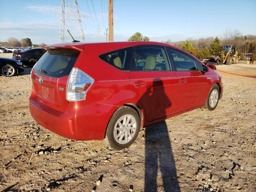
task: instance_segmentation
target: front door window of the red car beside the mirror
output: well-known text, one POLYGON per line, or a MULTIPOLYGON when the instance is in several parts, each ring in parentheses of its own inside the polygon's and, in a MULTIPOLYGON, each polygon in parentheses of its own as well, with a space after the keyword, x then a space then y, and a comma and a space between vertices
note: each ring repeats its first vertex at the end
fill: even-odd
POLYGON ((177 71, 198 71, 196 60, 186 54, 169 49, 177 71))

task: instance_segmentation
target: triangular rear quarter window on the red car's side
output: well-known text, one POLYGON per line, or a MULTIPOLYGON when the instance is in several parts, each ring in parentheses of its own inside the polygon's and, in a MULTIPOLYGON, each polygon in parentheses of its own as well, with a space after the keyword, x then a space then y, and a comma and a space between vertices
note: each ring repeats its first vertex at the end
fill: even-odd
POLYGON ((133 47, 115 50, 104 53, 99 58, 120 70, 127 71, 130 70, 132 49, 133 47))

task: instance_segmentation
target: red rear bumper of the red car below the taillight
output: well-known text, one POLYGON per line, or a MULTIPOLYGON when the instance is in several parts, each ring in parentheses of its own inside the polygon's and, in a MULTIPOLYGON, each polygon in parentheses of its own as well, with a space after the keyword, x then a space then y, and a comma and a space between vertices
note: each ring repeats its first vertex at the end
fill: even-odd
POLYGON ((32 92, 29 108, 38 124, 60 136, 74 140, 103 140, 108 121, 117 107, 80 101, 69 102, 65 112, 59 112, 38 102, 32 92))

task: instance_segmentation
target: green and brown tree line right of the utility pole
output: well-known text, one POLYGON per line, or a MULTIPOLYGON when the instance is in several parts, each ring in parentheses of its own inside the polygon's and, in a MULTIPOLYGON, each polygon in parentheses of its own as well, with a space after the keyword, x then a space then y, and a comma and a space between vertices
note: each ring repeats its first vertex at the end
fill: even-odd
MULTIPOLYGON (((149 41, 150 38, 142 36, 141 33, 136 32, 128 41, 149 41)), ((181 48, 195 57, 203 60, 204 58, 215 58, 222 50, 224 45, 236 45, 238 55, 244 53, 252 53, 252 60, 256 60, 256 36, 243 36, 238 30, 227 30, 223 33, 222 38, 218 36, 200 38, 198 40, 188 39, 184 41, 172 42, 167 40, 163 42, 181 48)))

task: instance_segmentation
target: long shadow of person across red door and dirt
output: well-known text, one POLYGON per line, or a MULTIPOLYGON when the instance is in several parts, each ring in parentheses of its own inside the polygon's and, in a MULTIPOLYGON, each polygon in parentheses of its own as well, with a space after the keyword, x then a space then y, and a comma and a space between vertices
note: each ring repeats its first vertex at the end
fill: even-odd
MULTIPOLYGON (((156 112, 155 114, 159 118, 166 116, 166 108, 171 106, 171 102, 164 92, 163 82, 159 78, 154 79, 152 87, 148 88, 140 100, 154 102, 150 108, 156 112), (154 109, 155 107, 157 108, 154 109)), ((147 112, 145 113, 147 115, 147 112)), ((162 186, 164 192, 180 192, 166 122, 162 121, 146 127, 145 138, 144 191, 161 191, 160 186, 162 186), (162 175, 162 184, 158 177, 158 168, 162 175)))

